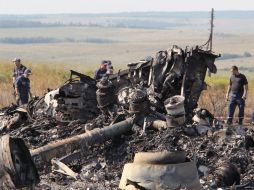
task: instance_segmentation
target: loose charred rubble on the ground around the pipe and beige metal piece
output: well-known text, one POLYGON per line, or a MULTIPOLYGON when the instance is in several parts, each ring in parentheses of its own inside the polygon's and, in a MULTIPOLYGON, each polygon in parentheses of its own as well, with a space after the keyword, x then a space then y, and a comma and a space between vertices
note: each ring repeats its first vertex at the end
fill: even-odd
MULTIPOLYGON (((57 172, 49 173, 50 166, 44 166, 39 171, 41 183, 38 188, 118 189, 123 166, 133 161, 135 153, 165 150, 185 151, 188 158, 197 159, 200 180, 205 189, 210 189, 211 181, 216 178, 215 171, 222 167, 225 161, 229 161, 240 170, 241 184, 253 185, 252 128, 246 129, 244 136, 217 136, 216 133, 199 136, 195 132, 190 136, 190 131, 181 127, 161 131, 150 129, 141 135, 142 130, 135 129, 132 134, 122 135, 102 145, 84 147, 82 156, 70 164, 71 169, 79 174, 78 180, 57 172)), ((84 130, 84 124, 78 122, 61 125, 54 119, 41 118, 11 131, 10 135, 24 139, 29 148, 37 148, 51 141, 77 135, 84 130)))

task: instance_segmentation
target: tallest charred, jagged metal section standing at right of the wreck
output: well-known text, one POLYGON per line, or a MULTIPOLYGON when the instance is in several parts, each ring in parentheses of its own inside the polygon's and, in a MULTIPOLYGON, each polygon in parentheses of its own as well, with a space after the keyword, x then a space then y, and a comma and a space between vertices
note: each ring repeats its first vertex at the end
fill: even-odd
MULTIPOLYGON (((207 70, 216 73, 214 64, 219 55, 201 47, 159 51, 156 58, 128 64, 129 69, 108 77, 118 94, 123 88, 140 88, 147 92, 151 106, 165 113, 164 101, 175 95, 185 97, 185 110, 191 120, 201 92, 206 89, 207 70)), ((114 97, 117 98, 117 97, 114 97)), ((114 101, 114 102, 117 102, 114 101)), ((119 101, 118 101, 119 103, 119 101)))

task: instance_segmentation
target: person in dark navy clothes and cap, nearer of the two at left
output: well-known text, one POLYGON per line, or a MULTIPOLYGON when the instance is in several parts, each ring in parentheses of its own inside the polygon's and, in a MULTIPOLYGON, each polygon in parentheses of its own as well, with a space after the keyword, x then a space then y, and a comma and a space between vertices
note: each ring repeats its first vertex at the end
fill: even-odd
POLYGON ((15 82, 16 101, 17 105, 27 104, 30 92, 30 80, 29 76, 32 74, 30 69, 26 69, 24 74, 19 76, 15 82))

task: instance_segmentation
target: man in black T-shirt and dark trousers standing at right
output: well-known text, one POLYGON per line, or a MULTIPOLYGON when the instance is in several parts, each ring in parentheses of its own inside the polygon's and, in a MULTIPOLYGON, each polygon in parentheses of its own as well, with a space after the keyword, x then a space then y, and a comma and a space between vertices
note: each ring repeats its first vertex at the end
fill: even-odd
POLYGON ((244 74, 239 73, 237 66, 231 67, 231 77, 226 94, 226 99, 229 101, 227 124, 231 125, 235 113, 235 108, 238 106, 238 124, 243 124, 245 100, 248 92, 248 81, 244 74))

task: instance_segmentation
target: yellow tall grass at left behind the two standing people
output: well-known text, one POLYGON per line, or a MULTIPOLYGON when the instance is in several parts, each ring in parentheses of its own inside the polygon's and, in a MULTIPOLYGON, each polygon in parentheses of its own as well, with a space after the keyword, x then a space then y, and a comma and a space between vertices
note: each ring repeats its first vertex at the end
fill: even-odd
MULTIPOLYGON (((32 69, 30 77, 31 92, 33 95, 42 96, 48 88, 55 89, 69 78, 70 66, 65 64, 36 64, 24 63, 32 69)), ((0 61, 0 107, 8 106, 15 102, 12 86, 13 63, 7 60, 0 61)), ((92 72, 87 71, 87 74, 92 72)))

